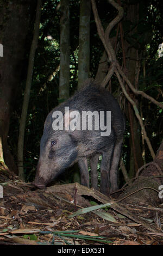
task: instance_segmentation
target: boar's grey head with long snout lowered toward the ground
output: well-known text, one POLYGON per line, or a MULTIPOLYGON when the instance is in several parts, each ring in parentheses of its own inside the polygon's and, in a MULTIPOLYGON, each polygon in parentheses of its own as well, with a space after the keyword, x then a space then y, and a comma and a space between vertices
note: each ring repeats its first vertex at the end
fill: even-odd
MULTIPOLYGON (((43 188, 63 170, 71 166, 78 156, 79 131, 53 130, 52 112, 48 114, 40 142, 40 157, 34 185, 43 188)), ((64 127, 70 119, 65 118, 64 127)))

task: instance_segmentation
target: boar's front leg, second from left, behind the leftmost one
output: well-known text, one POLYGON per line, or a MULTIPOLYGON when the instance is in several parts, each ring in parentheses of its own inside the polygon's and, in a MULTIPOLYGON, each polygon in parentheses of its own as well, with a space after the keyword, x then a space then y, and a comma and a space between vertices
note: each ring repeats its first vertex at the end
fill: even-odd
POLYGON ((91 186, 97 190, 98 188, 98 173, 97 173, 97 164, 98 164, 99 155, 96 154, 91 157, 91 186))

